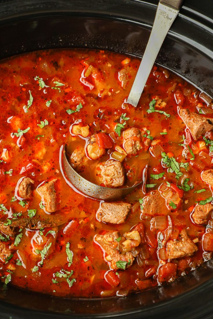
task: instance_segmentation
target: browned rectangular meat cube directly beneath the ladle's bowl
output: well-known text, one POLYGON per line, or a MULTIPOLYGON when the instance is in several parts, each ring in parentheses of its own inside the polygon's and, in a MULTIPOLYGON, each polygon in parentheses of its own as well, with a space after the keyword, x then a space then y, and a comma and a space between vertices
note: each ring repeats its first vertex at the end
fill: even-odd
POLYGON ((102 203, 96 216, 104 223, 121 224, 125 222, 131 208, 132 205, 128 203, 102 203))

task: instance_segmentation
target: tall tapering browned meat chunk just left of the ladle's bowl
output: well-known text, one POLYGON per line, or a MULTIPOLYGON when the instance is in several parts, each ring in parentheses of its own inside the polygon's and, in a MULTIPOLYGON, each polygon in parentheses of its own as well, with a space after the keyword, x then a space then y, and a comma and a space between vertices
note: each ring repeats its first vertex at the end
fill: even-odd
POLYGON ((45 209, 49 213, 56 211, 56 191, 54 188, 54 183, 56 181, 57 179, 53 179, 37 188, 37 192, 45 202, 45 209))

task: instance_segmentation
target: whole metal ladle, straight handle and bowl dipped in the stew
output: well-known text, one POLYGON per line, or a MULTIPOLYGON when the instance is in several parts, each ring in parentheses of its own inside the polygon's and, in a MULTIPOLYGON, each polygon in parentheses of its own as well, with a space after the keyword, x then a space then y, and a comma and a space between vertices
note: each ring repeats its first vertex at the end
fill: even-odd
MULTIPOLYGON (((132 104, 134 107, 138 105, 157 54, 163 44, 166 34, 179 13, 182 1, 183 0, 160 0, 158 4, 149 41, 127 99, 127 103, 132 104)), ((63 166, 69 181, 77 190, 80 190, 80 192, 89 197, 103 200, 115 200, 126 197, 142 183, 141 181, 136 185, 127 188, 108 188, 96 185, 87 181, 72 168, 66 157, 65 146, 62 148, 62 152, 63 166)))

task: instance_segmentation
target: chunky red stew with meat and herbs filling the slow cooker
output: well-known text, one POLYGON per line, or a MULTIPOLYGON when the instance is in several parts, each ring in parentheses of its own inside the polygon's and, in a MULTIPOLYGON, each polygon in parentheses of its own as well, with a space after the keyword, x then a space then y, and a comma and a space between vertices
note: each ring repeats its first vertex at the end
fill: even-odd
POLYGON ((57 296, 126 295, 173 281, 211 258, 212 104, 182 78, 154 66, 138 107, 132 107, 126 99, 139 64, 138 58, 83 49, 1 61, 0 275, 5 284, 57 296), (203 124, 193 133, 195 119, 186 127, 179 115, 186 109, 208 119, 207 130, 203 124), (123 132, 132 128, 139 137, 130 137, 136 151, 128 152, 123 132), (108 160, 124 170, 125 181, 116 187, 146 177, 118 201, 131 204, 124 222, 98 220, 103 202, 65 182, 59 165, 65 143, 70 163, 92 182, 107 186, 100 163, 108 160), (89 144, 98 145, 100 157, 91 159, 89 144), (80 163, 72 160, 76 149, 83 150, 80 163), (33 181, 24 189, 28 198, 19 188, 26 177, 33 181), (50 185, 46 182, 52 188, 42 197, 39 187, 50 185), (196 210, 201 210, 199 224, 196 210), (140 239, 131 234, 126 242, 128 234, 123 235, 133 231, 140 239), (118 238, 107 241, 106 234, 118 238), (104 245, 121 256, 114 266, 113 253, 103 256, 104 245))

